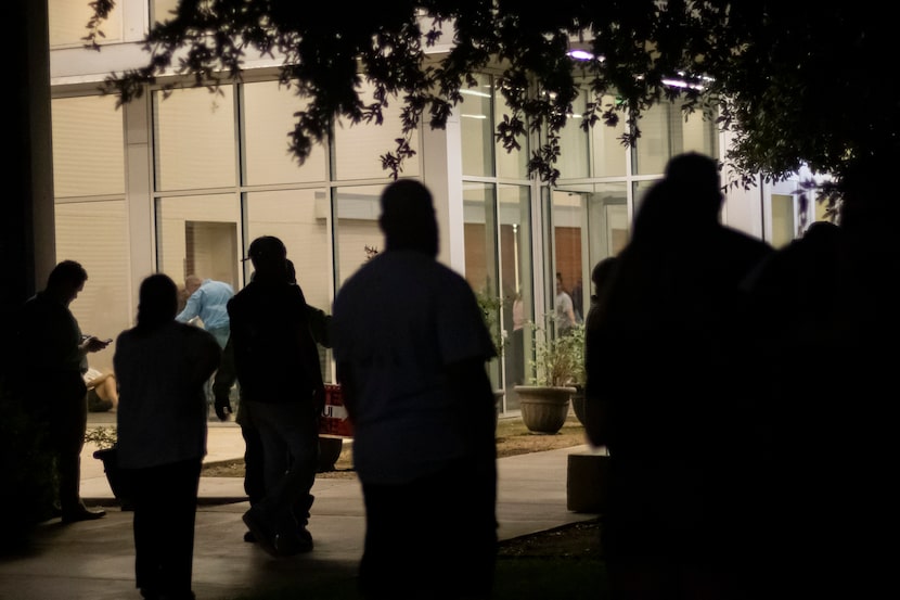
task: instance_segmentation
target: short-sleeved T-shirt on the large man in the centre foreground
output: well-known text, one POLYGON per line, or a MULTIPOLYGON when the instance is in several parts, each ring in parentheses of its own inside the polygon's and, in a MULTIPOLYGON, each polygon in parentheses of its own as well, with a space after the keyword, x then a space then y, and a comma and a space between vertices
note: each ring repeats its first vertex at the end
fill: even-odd
MULTIPOLYGON (((493 345, 468 283, 430 256, 390 251, 367 263, 334 301, 332 347, 359 386, 353 467, 363 483, 398 484, 471 451, 446 366, 489 360, 493 345), (461 422, 462 421, 462 422, 461 422)), ((477 411, 476 411, 477 412, 477 411)))

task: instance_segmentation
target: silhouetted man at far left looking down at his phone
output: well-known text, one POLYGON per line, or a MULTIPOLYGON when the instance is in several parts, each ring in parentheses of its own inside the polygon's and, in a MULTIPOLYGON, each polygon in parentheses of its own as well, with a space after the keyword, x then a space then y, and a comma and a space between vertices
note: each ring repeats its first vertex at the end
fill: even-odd
POLYGON ((87 355, 104 349, 108 342, 82 336, 68 306, 85 288, 88 272, 75 260, 57 264, 47 285, 29 298, 15 323, 16 372, 27 385, 20 392, 33 412, 55 461, 63 523, 100 519, 101 510, 88 510, 81 501, 81 448, 88 420, 87 355))

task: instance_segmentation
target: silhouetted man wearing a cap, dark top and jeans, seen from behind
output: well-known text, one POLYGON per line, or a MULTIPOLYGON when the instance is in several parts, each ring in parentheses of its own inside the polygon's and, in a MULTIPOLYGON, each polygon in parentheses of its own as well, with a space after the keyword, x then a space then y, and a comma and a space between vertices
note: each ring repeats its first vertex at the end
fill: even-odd
POLYGON ((288 281, 284 243, 263 235, 250 243, 252 281, 228 303, 234 369, 244 408, 262 443, 266 496, 244 514, 260 546, 275 557, 308 552, 306 499, 319 459, 319 414, 325 391, 310 333, 306 298, 288 281))

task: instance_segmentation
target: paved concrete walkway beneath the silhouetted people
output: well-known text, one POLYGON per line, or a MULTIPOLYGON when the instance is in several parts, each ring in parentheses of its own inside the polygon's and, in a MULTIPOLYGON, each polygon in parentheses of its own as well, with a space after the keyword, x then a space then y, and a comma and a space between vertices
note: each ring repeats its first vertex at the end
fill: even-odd
MULTIPOLYGON (((208 447, 207 461, 242 457, 240 427, 210 423, 208 447)), ((81 493, 89 506, 108 505, 113 495, 93 449, 86 446, 82 454, 81 493)), ((567 456, 583 451, 587 446, 500 459, 501 539, 595 516, 566 509, 567 456)), ((194 545, 197 600, 230 600, 290 584, 346 585, 352 579, 365 527, 360 485, 356 480, 318 478, 312 493, 309 531, 314 550, 273 559, 242 540, 246 527, 241 515, 249 508, 243 481, 202 477, 194 545)), ((131 514, 111 506, 98 521, 41 524, 31 552, 0 561, 0 600, 140 600, 133 579, 131 514)))

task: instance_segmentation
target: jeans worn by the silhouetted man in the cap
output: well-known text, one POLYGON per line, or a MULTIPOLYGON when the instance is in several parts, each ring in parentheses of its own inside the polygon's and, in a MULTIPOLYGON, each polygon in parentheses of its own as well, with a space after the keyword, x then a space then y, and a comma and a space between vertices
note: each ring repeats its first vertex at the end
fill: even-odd
MULTIPOLYGON (((319 423, 310 401, 245 401, 262 444, 266 496, 259 507, 279 525, 309 498, 319 465, 319 423)), ((308 514, 306 515, 308 519, 308 514)), ((305 521, 303 515, 297 520, 305 521)), ((306 525, 306 522, 300 522, 306 525)))

